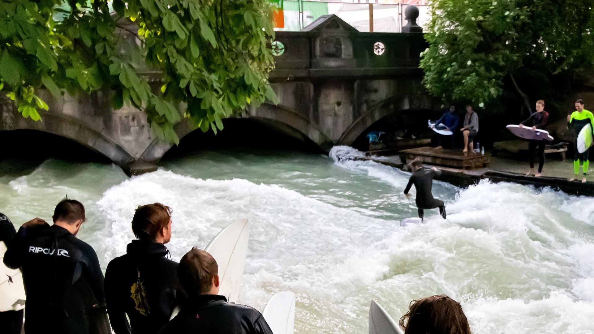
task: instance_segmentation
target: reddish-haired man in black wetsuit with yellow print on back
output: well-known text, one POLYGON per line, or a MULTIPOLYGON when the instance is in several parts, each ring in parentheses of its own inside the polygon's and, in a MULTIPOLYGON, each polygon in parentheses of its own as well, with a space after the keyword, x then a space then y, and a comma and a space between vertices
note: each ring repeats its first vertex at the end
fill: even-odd
POLYGON ((185 297, 178 263, 165 257, 171 209, 160 203, 138 207, 132 232, 138 240, 128 244, 127 254, 111 260, 105 272, 109 322, 116 334, 156 333, 185 297))

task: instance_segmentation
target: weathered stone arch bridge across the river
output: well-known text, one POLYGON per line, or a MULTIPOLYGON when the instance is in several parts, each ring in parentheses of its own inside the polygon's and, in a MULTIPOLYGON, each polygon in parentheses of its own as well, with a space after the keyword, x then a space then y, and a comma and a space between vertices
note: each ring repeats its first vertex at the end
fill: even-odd
MULTIPOLYGON (((407 14, 414 18, 414 12, 407 14)), ((403 27, 405 33, 361 33, 336 15, 324 15, 304 30, 278 31, 270 82, 280 103, 264 103, 238 117, 258 119, 328 151, 352 144, 394 112, 433 108, 418 68, 426 43, 414 21, 403 27)), ((67 137, 132 174, 135 165, 156 164, 172 146, 154 136, 143 112, 126 106, 113 110, 105 93, 66 94, 61 100, 45 95, 50 108, 40 122, 24 119, 3 101, 0 130, 67 137)), ((176 132, 183 138, 191 128, 181 123, 176 132)))

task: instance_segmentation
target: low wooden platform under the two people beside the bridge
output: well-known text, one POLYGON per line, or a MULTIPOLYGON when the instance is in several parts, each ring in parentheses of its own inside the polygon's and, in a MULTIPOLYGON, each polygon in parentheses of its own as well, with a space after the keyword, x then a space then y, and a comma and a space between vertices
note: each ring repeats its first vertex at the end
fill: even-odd
POLYGON ((485 155, 481 155, 480 153, 476 154, 472 152, 464 153, 462 150, 436 150, 434 147, 430 146, 400 151, 400 160, 402 160, 403 163, 409 163, 416 158, 431 165, 451 166, 461 169, 476 169, 488 167, 491 155, 486 152, 485 155))

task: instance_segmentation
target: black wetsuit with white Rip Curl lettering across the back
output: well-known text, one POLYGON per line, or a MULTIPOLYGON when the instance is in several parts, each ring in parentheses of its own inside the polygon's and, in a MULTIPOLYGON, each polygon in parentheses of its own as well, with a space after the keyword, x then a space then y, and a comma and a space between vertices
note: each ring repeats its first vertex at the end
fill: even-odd
POLYGON ((86 334, 92 306, 104 303, 93 248, 58 225, 20 228, 4 263, 23 271, 25 332, 86 334))

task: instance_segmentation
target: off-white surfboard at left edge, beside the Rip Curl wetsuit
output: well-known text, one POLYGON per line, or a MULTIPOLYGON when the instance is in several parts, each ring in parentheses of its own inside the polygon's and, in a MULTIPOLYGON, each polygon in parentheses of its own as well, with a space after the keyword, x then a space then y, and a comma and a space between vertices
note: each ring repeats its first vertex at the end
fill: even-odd
POLYGON ((0 312, 23 310, 26 299, 23 273, 4 265, 6 250, 4 241, 0 241, 0 312))

